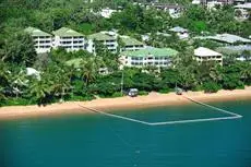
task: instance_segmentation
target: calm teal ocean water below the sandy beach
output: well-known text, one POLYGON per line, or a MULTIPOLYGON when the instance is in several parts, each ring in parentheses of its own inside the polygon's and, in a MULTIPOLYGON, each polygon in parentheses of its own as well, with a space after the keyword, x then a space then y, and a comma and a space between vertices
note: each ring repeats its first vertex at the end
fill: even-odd
MULTIPOLYGON (((101 115, 0 122, 0 167, 251 167, 251 100, 211 105, 241 119, 150 127, 101 115)), ((116 114, 148 122, 226 117, 206 107, 116 114)))

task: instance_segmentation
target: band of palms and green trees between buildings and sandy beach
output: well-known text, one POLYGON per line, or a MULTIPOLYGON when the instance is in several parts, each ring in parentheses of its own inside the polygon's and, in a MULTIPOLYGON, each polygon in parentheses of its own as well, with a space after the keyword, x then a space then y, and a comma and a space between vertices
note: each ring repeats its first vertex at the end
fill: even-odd
POLYGON ((38 65, 39 77, 27 76, 22 63, 11 65, 12 61, 11 63, 1 61, 1 105, 43 105, 62 99, 117 97, 121 95, 122 73, 123 90, 135 87, 142 94, 151 91, 167 93, 174 91, 176 84, 186 91, 205 90, 207 93, 217 92, 220 88, 243 88, 244 85, 251 84, 249 62, 232 62, 224 67, 214 63, 198 64, 189 52, 180 53, 175 61, 176 68, 160 69, 160 73, 154 68, 119 71, 118 65, 106 64, 103 57, 93 57, 85 51, 69 53, 64 50, 53 50, 48 60, 43 62, 46 64, 38 65), (72 58, 81 60, 77 65, 67 63, 72 58), (109 74, 99 74, 99 69, 104 67, 109 69, 109 74), (144 70, 148 72, 143 72, 144 70))

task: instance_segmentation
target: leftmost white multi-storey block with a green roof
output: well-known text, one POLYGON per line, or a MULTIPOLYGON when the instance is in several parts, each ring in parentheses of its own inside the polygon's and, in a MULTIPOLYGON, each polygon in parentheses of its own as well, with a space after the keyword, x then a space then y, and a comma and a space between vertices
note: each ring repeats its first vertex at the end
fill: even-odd
POLYGON ((28 33, 34 40, 37 53, 49 52, 52 47, 52 35, 35 27, 27 27, 24 32, 28 33))

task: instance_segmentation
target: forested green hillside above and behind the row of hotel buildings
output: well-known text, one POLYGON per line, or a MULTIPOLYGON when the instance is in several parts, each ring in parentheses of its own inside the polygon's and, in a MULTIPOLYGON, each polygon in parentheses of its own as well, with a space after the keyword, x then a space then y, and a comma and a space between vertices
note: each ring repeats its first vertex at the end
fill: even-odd
POLYGON ((2 37, 27 26, 38 27, 46 32, 69 26, 84 34, 91 34, 115 27, 123 33, 146 33, 153 29, 166 31, 168 26, 180 25, 195 33, 224 32, 246 37, 251 34, 250 21, 236 21, 234 9, 228 5, 219 10, 207 11, 202 7, 186 4, 187 11, 179 19, 171 19, 163 11, 145 10, 132 5, 127 0, 99 0, 94 3, 86 3, 83 0, 2 0, 0 8, 2 37), (113 14, 111 19, 103 19, 95 14, 105 7, 113 9, 120 7, 124 10, 113 14))

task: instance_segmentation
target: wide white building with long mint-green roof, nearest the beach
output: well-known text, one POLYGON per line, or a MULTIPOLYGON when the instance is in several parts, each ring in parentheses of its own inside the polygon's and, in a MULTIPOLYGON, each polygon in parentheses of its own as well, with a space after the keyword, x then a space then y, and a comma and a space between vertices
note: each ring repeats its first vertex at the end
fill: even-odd
POLYGON ((178 51, 170 48, 147 47, 136 51, 123 51, 120 53, 122 67, 157 67, 167 68, 172 64, 172 59, 178 51))

